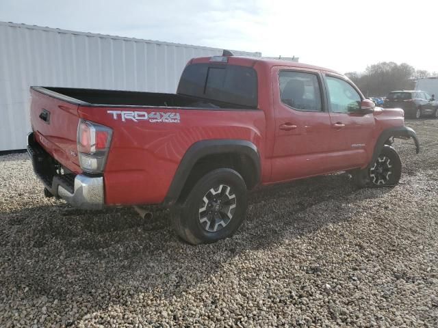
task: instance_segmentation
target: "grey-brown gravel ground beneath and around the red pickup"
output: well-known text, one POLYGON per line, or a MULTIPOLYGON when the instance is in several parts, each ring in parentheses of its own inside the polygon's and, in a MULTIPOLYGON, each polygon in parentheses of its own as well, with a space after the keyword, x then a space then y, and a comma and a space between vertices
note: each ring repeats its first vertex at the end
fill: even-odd
POLYGON ((182 243, 165 211, 44 198, 0 157, 0 327, 438 327, 438 120, 408 121, 397 187, 346 174, 250 197, 239 232, 182 243))

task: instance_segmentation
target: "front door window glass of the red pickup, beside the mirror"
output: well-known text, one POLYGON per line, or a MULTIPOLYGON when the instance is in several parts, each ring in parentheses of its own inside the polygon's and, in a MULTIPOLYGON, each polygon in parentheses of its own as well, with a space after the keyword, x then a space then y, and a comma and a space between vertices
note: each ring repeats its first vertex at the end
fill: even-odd
POLYGON ((361 96, 342 79, 326 77, 330 109, 333 113, 354 113, 361 108, 361 96))

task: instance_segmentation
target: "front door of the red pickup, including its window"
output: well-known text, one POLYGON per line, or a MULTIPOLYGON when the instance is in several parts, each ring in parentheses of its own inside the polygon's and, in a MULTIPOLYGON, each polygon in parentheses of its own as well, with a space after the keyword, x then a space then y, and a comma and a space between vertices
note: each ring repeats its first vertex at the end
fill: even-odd
POLYGON ((374 115, 360 113, 363 96, 342 76, 326 74, 325 85, 331 120, 327 136, 333 170, 363 167, 372 154, 374 115))

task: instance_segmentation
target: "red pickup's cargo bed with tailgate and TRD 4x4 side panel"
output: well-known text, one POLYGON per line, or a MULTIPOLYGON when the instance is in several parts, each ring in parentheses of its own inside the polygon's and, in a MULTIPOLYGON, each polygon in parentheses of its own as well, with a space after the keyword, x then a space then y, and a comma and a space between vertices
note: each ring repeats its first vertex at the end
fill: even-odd
MULTIPOLYGON (((61 167, 64 174, 83 175, 79 122, 87 120, 111 128, 110 152, 105 173, 100 175, 105 204, 159 204, 182 157, 194 143, 237 139, 259 145, 265 131, 262 110, 212 101, 214 104, 181 94, 31 87, 31 142, 38 143, 47 153, 45 157, 55 160, 53 165, 61 167), (123 120, 122 113, 133 112, 147 113, 151 120, 123 120), (167 115, 178 119, 157 119, 167 115)), ((49 173, 43 178, 56 188, 60 181, 54 179, 53 170, 49 173)))

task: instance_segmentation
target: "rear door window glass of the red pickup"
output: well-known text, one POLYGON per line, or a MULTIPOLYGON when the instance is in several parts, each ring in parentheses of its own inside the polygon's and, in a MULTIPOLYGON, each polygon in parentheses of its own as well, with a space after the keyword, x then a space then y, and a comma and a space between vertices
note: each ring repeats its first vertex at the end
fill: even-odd
POLYGON ((316 74, 281 70, 279 80, 281 102, 285 105, 299 111, 322 111, 316 74))

